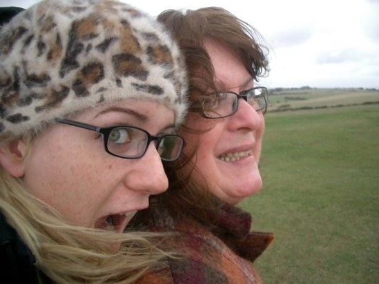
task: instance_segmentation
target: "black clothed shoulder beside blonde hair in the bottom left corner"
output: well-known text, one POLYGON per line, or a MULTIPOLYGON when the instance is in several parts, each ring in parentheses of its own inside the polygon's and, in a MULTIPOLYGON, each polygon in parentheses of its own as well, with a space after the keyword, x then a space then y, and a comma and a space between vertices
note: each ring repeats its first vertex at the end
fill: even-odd
POLYGON ((14 283, 37 283, 35 257, 1 211, 0 232, 1 278, 12 279, 14 283))

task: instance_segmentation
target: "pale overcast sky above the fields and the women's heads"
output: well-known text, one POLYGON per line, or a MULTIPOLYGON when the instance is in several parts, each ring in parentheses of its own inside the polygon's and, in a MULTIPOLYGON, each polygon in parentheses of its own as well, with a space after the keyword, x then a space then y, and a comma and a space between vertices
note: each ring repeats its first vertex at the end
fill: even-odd
MULTIPOLYGON (((28 8, 36 2, 0 0, 0 5, 28 8)), ((261 84, 269 88, 379 88, 379 0, 124 2, 153 16, 206 6, 233 12, 266 40, 271 72, 261 84)))

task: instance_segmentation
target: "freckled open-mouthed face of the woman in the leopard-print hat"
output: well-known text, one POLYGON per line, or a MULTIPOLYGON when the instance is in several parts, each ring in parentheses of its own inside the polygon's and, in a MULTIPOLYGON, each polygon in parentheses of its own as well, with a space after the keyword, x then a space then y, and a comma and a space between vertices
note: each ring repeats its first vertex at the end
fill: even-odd
MULTIPOLYGON (((133 125, 150 134, 171 133, 174 112, 156 101, 128 99, 70 119, 104 127, 133 125)), ((122 232, 150 194, 168 187, 162 161, 150 143, 139 159, 104 150, 99 133, 57 123, 39 134, 23 161, 26 187, 75 225, 122 232)))

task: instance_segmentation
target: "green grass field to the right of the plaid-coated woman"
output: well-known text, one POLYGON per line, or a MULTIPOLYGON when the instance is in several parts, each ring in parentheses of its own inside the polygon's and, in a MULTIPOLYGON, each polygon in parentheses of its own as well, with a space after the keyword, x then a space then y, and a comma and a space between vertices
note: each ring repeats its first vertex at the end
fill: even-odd
POLYGON ((268 112, 260 167, 266 284, 379 283, 379 104, 268 112))

